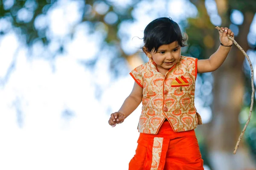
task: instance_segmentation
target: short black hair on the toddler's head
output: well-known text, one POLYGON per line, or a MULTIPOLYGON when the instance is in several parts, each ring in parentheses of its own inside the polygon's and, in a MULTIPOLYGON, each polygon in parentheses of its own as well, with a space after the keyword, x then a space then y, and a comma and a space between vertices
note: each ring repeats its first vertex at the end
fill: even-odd
POLYGON ((183 39, 180 27, 171 18, 161 17, 149 23, 144 30, 144 47, 146 51, 154 50, 156 52, 161 45, 170 44, 177 41, 181 47, 186 46, 183 39))

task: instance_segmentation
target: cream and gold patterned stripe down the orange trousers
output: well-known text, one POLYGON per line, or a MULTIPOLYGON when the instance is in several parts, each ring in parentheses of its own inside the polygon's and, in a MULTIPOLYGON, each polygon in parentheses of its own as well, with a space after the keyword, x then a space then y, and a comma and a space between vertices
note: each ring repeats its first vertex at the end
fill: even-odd
POLYGON ((152 164, 150 170, 157 170, 163 147, 163 138, 154 138, 153 149, 152 149, 152 164))

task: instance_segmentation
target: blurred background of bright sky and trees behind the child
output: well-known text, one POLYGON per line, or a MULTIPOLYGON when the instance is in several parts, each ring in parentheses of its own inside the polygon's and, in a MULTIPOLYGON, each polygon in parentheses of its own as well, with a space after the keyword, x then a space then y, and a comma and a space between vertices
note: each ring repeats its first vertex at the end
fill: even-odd
MULTIPOLYGON (((112 128, 130 94, 129 72, 148 61, 145 26, 171 17, 188 34, 182 54, 208 58, 233 30, 256 66, 255 0, 0 0, 0 169, 127 170, 141 105, 112 128)), ((233 46, 217 71, 198 74, 196 129, 205 170, 256 170, 250 67, 233 46)))

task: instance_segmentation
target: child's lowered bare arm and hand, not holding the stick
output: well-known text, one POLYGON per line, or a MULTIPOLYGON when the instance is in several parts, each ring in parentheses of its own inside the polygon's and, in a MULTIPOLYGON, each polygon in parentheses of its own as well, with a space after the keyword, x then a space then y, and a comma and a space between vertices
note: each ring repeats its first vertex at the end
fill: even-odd
POLYGON ((109 125, 115 126, 124 121, 141 103, 143 96, 143 88, 134 82, 131 94, 125 99, 118 112, 112 113, 108 121, 109 125))

